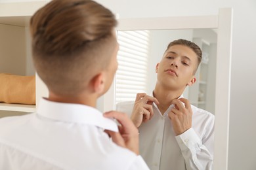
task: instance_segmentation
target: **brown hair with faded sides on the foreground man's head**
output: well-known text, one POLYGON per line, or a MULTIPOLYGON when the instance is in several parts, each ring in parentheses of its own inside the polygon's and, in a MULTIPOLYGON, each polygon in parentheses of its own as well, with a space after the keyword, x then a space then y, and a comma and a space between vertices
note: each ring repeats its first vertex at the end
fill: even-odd
POLYGON ((90 0, 53 0, 30 21, 35 69, 49 90, 76 95, 116 46, 114 14, 90 0))

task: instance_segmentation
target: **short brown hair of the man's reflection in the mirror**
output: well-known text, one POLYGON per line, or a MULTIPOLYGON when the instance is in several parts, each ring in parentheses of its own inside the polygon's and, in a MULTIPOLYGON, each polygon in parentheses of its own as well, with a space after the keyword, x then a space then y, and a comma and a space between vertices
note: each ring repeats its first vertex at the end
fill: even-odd
MULTIPOLYGON (((168 44, 167 46, 167 50, 174 45, 183 45, 183 46, 187 46, 189 48, 191 48, 195 53, 196 56, 198 57, 198 65, 196 67, 196 70, 198 69, 198 66, 200 65, 201 61, 202 61, 202 50, 200 49, 200 47, 192 42, 192 41, 188 41, 186 39, 177 39, 175 41, 172 41, 168 44)), ((194 73, 196 73, 196 70, 194 71, 194 73)))

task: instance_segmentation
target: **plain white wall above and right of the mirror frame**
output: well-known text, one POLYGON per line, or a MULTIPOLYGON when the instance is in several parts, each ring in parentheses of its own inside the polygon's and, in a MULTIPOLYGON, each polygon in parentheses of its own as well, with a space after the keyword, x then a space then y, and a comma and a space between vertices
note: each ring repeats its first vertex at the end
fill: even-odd
MULTIPOLYGON (((228 169, 256 169, 256 1, 255 0, 97 0, 119 18, 215 15, 233 7, 233 39, 228 169)), ((175 23, 173 23, 175 24, 175 23)))

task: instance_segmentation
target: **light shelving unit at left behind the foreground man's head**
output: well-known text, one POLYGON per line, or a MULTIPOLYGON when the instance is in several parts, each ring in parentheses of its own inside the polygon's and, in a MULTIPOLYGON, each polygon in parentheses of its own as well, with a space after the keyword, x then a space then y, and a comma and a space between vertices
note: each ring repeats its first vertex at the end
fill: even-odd
MULTIPOLYGON (((30 47, 29 22, 33 13, 48 1, 0 3, 0 73, 35 75, 30 47)), ((5 83, 5 82, 1 82, 5 83)), ((36 103, 47 96, 47 88, 36 75, 36 103)), ((1 114, 34 112, 36 105, 0 103, 1 114)))

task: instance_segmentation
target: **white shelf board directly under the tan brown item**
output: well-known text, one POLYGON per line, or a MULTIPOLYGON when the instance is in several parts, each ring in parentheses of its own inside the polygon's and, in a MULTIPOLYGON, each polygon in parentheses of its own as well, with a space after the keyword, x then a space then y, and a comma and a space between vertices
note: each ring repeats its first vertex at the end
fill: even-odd
POLYGON ((35 105, 0 103, 0 110, 18 111, 18 112, 35 112, 35 105))

